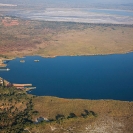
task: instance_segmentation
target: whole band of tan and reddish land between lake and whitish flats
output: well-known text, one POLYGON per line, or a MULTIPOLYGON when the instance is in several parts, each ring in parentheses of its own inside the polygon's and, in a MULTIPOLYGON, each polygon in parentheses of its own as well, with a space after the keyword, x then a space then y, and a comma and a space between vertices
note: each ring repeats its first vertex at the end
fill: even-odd
POLYGON ((133 26, 0 18, 0 54, 66 56, 133 51, 133 26))

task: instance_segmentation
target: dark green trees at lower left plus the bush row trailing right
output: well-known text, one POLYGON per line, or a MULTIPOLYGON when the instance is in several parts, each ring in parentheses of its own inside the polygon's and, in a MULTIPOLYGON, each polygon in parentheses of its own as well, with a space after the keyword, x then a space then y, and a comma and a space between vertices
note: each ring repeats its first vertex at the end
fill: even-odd
MULTIPOLYGON (((26 128, 34 127, 34 118, 39 117, 39 112, 34 109, 33 99, 35 96, 27 94, 24 90, 15 89, 14 87, 0 87, 0 132, 1 133, 21 133, 26 128)), ((79 117, 74 113, 70 113, 68 116, 55 114, 54 119, 42 121, 38 123, 52 124, 62 123, 69 119, 75 118, 87 118, 89 116, 95 116, 92 111, 85 110, 79 117)))

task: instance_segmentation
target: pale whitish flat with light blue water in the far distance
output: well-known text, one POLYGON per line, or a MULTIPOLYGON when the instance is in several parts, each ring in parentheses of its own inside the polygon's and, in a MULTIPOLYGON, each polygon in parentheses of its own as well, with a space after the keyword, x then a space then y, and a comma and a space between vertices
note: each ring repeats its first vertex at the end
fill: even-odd
POLYGON ((46 8, 40 10, 9 10, 5 15, 13 15, 31 20, 133 24, 132 10, 90 9, 90 8, 46 8))

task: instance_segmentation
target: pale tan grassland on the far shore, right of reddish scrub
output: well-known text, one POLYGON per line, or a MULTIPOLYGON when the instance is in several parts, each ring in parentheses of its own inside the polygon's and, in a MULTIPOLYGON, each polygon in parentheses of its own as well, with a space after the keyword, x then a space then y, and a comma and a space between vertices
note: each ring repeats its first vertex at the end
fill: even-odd
POLYGON ((49 47, 38 54, 45 56, 114 54, 133 51, 133 28, 90 26, 58 33, 49 47))

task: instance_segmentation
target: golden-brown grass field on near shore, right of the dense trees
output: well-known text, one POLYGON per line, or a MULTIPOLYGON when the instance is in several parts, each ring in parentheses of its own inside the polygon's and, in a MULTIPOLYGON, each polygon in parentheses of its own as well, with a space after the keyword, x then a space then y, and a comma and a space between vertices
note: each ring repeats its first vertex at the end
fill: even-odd
POLYGON ((133 132, 133 103, 111 100, 80 100, 56 97, 35 97, 34 109, 38 117, 53 120, 52 123, 40 123, 30 127, 32 132, 55 133, 131 133, 133 132), (92 115, 84 117, 86 112, 92 115), (68 119, 73 114, 75 117, 68 119), (57 116, 62 116, 61 120, 57 116), (54 121, 57 119, 57 121, 54 121))

